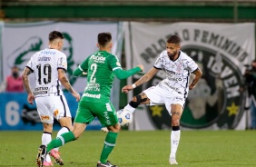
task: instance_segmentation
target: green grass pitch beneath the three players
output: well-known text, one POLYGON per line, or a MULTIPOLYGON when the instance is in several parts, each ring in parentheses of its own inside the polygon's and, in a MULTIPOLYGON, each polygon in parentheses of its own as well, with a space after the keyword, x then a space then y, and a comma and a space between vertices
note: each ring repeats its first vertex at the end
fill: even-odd
MULTIPOLYGON (((36 166, 41 132, 0 132, 0 166, 36 166)), ((53 133, 55 137, 56 132, 53 133)), ((95 167, 105 133, 85 132, 60 152, 64 166, 95 167)), ((170 166, 170 131, 122 131, 109 160, 120 167, 170 166)), ((256 166, 256 131, 182 131, 179 166, 256 166)), ((54 163, 54 166, 58 166, 54 163)))

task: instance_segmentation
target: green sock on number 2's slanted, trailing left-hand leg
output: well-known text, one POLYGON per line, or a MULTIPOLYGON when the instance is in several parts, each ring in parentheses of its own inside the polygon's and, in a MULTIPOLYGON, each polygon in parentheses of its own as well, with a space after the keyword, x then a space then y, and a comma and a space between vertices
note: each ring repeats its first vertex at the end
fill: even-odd
POLYGON ((72 133, 71 131, 68 133, 63 133, 62 135, 47 144, 47 152, 50 152, 52 149, 64 145, 66 142, 71 142, 74 140, 74 133, 72 133))

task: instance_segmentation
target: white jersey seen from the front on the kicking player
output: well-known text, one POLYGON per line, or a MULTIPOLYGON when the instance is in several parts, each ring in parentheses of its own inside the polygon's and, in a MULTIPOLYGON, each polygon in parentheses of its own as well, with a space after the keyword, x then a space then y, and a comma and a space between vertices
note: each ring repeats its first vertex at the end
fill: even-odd
POLYGON ((166 72, 166 78, 158 86, 180 93, 184 98, 188 96, 189 76, 198 68, 191 57, 180 51, 178 59, 172 61, 167 51, 163 51, 153 66, 166 72))

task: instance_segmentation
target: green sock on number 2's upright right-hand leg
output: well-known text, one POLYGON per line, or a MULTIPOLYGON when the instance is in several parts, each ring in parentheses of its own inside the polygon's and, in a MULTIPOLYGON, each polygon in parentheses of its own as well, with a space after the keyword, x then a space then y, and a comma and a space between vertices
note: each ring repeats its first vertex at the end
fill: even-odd
POLYGON ((112 152, 115 145, 115 141, 118 133, 109 132, 106 135, 105 142, 103 145, 103 152, 101 154, 100 162, 105 163, 107 161, 108 155, 112 152))

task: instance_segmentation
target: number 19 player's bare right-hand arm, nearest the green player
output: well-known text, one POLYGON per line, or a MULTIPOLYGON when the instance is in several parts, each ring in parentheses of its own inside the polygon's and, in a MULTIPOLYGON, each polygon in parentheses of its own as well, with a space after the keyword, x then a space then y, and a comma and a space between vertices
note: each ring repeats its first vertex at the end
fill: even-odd
POLYGON ((65 70, 63 68, 58 69, 58 79, 64 85, 64 88, 66 88, 70 93, 72 93, 72 95, 74 96, 76 101, 79 101, 80 100, 80 94, 76 93, 74 91, 72 85, 69 83, 69 81, 68 81, 68 79, 65 75, 65 70))

